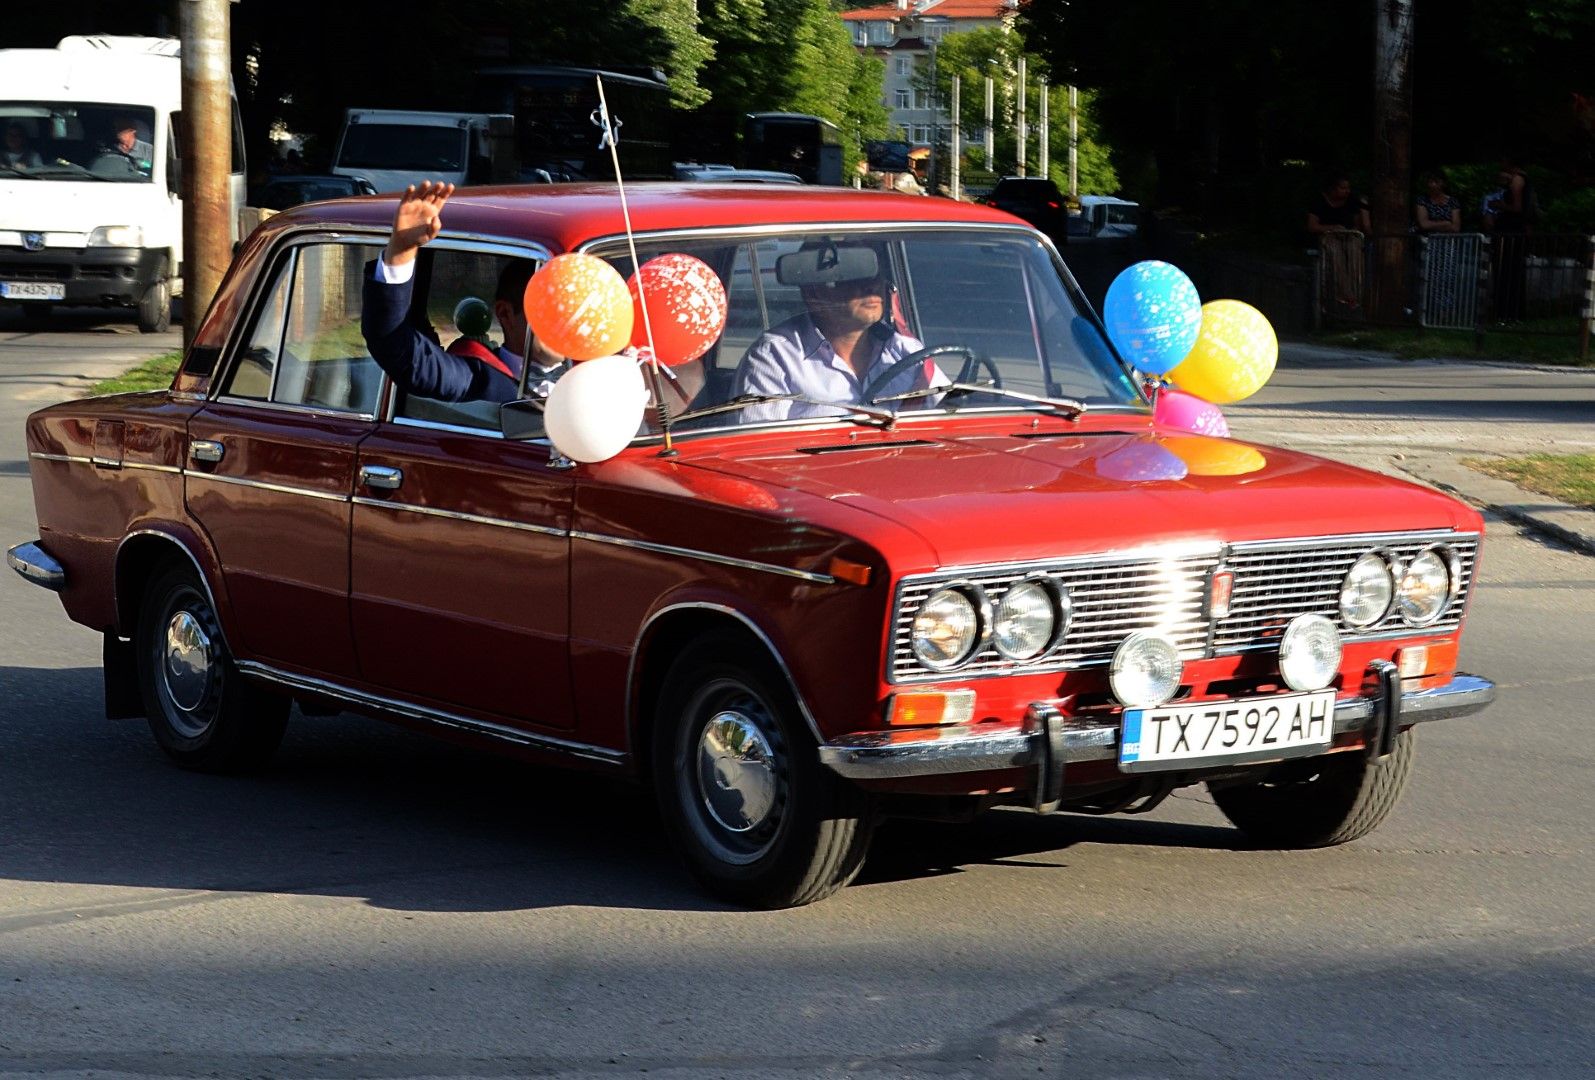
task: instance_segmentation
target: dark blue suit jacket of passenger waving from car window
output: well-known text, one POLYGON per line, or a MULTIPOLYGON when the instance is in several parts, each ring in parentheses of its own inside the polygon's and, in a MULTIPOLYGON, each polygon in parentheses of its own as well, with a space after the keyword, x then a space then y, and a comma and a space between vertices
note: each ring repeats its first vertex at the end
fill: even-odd
MULTIPOLYGON (((456 356, 421 333, 405 319, 415 279, 389 286, 376 279, 376 263, 365 265, 360 333, 372 357, 407 394, 443 402, 509 402, 518 386, 504 372, 469 356, 456 356)), ((520 357, 509 349, 494 349, 512 372, 520 372, 520 357)))

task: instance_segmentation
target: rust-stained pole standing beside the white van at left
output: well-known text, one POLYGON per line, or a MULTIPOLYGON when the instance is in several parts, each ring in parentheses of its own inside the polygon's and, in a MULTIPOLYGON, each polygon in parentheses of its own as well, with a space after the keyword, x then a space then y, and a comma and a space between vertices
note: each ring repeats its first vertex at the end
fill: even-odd
MULTIPOLYGON (((183 48, 183 343, 233 262, 228 0, 180 0, 183 48)), ((175 266, 171 268, 175 271, 175 266)))

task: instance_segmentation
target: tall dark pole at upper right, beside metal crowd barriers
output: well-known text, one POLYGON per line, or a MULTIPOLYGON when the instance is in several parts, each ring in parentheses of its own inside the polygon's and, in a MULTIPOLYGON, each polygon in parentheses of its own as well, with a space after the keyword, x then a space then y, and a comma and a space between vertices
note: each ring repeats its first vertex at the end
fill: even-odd
POLYGON ((1407 306, 1407 191, 1412 188, 1413 0, 1373 0, 1373 255, 1386 317, 1407 306))

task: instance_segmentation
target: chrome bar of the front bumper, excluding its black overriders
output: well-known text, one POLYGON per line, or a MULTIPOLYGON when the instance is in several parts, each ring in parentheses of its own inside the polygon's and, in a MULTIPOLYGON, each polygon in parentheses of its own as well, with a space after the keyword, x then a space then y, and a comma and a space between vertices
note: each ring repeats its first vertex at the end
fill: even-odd
MULTIPOLYGON (((1495 696, 1495 683, 1490 680, 1458 672, 1445 686, 1404 691, 1400 723, 1402 727, 1407 727, 1432 719, 1469 716, 1493 702, 1495 696)), ((1045 705, 1032 705, 1032 711, 1042 707, 1045 705)), ((1372 721, 1373 699, 1343 697, 1335 702, 1337 735, 1367 731, 1372 721)), ((1118 723, 1065 726, 1065 758, 1070 764, 1113 761, 1118 758, 1118 723)), ((924 739, 906 742, 901 731, 863 731, 821 742, 820 764, 849 780, 893 780, 1016 769, 1038 761, 1038 755, 1043 751, 1043 732, 1035 727, 997 724, 933 727, 925 729, 924 739)), ((1191 759, 1179 763, 1171 771, 1258 764, 1258 761, 1284 759, 1286 756, 1290 755, 1265 753, 1262 758, 1254 755, 1252 759, 1233 756, 1191 759)))

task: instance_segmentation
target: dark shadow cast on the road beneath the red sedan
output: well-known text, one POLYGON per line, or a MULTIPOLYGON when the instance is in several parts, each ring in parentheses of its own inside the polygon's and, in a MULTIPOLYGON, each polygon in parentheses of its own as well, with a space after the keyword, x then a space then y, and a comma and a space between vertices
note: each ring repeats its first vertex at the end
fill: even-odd
MULTIPOLYGON (((179 905, 266 892, 399 911, 726 909, 670 853, 641 786, 298 711, 263 772, 187 772, 144 721, 104 719, 100 694, 99 668, 0 667, 0 877, 169 890, 179 905)), ((1026 812, 888 822, 860 882, 1056 873, 1034 857, 1085 842, 1228 849, 1238 834, 1026 812)))

